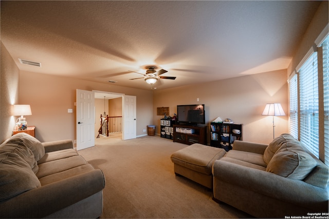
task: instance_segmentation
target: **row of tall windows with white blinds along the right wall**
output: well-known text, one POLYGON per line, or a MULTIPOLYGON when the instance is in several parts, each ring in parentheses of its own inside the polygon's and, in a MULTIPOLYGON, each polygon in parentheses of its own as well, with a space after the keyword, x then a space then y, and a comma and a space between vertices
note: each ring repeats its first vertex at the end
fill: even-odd
POLYGON ((296 68, 298 73, 288 82, 289 133, 326 165, 329 165, 328 44, 326 28, 317 38, 319 52, 310 49, 296 68))

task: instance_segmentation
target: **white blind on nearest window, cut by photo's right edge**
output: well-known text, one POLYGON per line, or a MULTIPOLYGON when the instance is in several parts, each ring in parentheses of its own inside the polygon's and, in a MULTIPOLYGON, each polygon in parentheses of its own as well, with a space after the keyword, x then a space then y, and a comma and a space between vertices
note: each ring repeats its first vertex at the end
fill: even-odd
POLYGON ((329 37, 322 43, 323 57, 323 103, 324 103, 324 163, 329 164, 329 37))

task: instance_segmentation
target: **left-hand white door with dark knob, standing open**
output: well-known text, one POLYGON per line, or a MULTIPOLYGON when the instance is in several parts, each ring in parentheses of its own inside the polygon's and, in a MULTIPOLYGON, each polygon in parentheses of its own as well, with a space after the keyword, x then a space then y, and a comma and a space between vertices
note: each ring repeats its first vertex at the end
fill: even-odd
POLYGON ((77 89, 77 150, 95 146, 94 106, 94 92, 77 89))

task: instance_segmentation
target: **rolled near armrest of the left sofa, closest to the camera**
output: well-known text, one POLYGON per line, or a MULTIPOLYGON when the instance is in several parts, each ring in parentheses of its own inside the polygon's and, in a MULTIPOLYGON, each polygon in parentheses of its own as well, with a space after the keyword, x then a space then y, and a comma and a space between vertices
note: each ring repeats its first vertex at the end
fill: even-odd
POLYGON ((45 217, 102 191, 104 186, 101 170, 75 175, 0 203, 0 218, 45 217))

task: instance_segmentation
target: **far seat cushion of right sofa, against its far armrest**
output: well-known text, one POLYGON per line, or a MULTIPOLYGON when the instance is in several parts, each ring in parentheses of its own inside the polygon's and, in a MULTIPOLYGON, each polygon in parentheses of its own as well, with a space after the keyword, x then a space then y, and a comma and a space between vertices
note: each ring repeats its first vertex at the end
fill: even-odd
POLYGON ((258 153, 252 153, 247 151, 229 150, 225 157, 230 157, 235 160, 244 161, 250 164, 255 164, 266 168, 266 164, 263 160, 263 155, 258 153))

